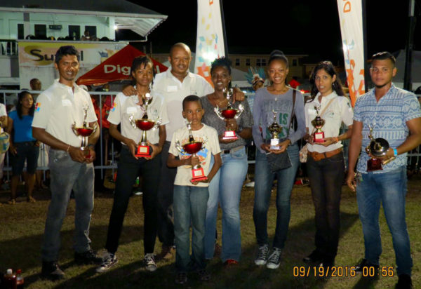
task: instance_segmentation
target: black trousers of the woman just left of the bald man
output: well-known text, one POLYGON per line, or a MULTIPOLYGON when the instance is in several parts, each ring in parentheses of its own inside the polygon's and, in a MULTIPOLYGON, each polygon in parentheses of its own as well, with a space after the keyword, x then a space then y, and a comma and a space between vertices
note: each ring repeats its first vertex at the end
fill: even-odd
POLYGON ((154 253, 156 239, 156 191, 159 183, 159 156, 148 161, 144 158, 135 159, 123 146, 117 169, 116 191, 109 217, 107 244, 105 248, 109 253, 115 253, 119 246, 119 238, 123 227, 124 215, 126 214, 128 200, 130 199, 133 184, 136 177, 142 175, 143 210, 145 212, 145 224, 143 238, 145 254, 154 253))

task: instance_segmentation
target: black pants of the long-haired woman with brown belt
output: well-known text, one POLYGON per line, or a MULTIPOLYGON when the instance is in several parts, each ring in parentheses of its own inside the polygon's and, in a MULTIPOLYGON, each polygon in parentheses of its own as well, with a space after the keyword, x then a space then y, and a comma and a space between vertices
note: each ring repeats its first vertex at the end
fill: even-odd
POLYGON ((307 158, 307 174, 316 210, 314 243, 325 262, 334 262, 338 252, 340 229, 340 194, 345 177, 342 152, 328 159, 307 158))

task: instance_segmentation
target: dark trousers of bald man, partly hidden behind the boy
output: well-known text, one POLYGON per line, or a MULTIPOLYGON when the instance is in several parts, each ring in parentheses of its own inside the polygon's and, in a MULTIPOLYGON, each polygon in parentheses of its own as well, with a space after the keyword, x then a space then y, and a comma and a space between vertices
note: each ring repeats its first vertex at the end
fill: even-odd
POLYGON ((168 168, 168 149, 170 142, 165 142, 161 152, 161 180, 158 188, 158 237, 162 246, 174 245, 174 224, 168 215, 173 214, 173 191, 177 168, 168 168))

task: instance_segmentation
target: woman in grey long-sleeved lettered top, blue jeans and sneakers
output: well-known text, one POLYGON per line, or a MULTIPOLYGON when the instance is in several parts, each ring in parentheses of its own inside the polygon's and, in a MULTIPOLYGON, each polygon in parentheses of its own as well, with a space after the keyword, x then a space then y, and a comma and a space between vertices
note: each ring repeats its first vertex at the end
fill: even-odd
POLYGON ((258 257, 255 264, 277 269, 281 264, 281 251, 285 246, 290 221, 290 195, 297 173, 299 156, 297 141, 305 135, 304 98, 301 93, 286 86, 288 59, 281 51, 273 51, 267 64, 267 74, 271 85, 256 91, 253 105, 253 139, 258 148, 255 163, 255 203, 253 220, 258 242, 258 257), (294 100, 295 98, 295 100, 294 100), (297 120, 294 131, 293 116, 297 120), (279 133, 279 149, 271 149, 272 138, 269 126, 276 122, 282 127, 279 133), (262 128, 262 129, 260 129, 262 128), (288 153, 291 166, 272 173, 268 154, 288 153), (277 177, 276 188, 276 229, 272 253, 269 254, 267 237, 267 211, 274 176, 277 177))

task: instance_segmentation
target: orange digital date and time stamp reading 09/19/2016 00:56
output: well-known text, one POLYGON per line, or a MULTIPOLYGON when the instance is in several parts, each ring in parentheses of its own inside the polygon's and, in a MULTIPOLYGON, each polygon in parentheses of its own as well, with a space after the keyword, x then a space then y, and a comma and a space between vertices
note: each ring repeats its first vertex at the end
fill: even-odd
POLYGON ((363 267, 361 275, 355 271, 354 266, 294 266, 293 267, 294 277, 393 277, 394 268, 392 266, 382 266, 379 269, 375 267, 363 267))

